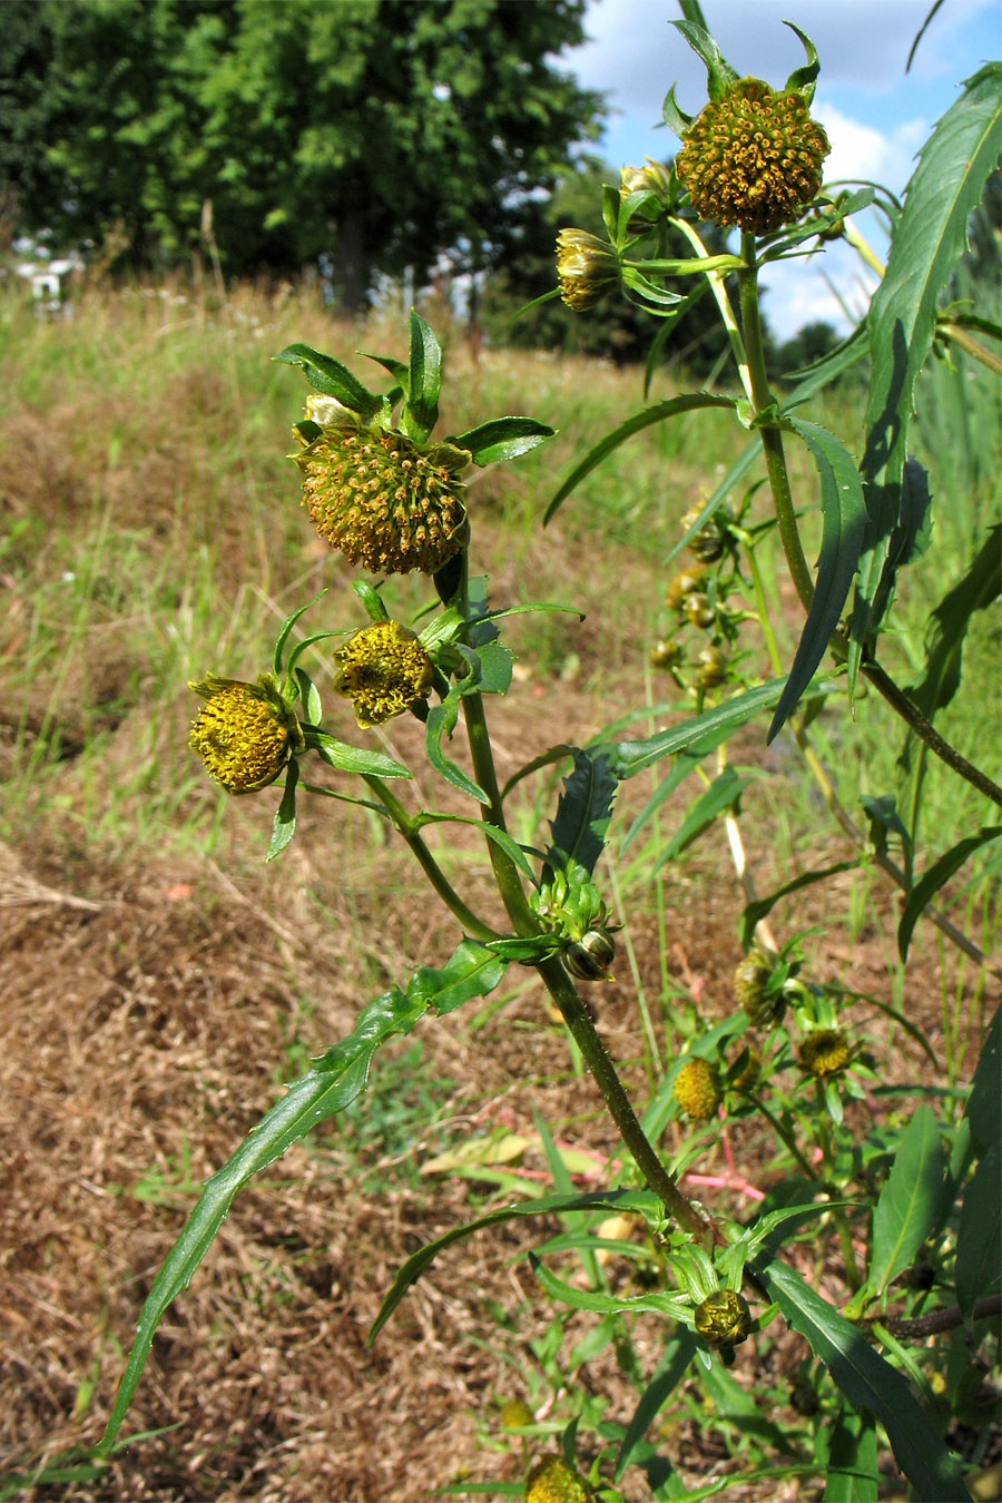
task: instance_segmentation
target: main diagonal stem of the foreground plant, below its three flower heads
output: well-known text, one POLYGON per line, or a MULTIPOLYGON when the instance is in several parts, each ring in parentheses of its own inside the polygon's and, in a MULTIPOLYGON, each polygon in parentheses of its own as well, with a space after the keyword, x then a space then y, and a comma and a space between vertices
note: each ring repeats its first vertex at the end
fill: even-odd
MULTIPOLYGON (((493 824, 494 828, 505 830, 505 813, 497 788, 497 773, 494 770, 494 756, 487 730, 482 696, 464 694, 463 714, 473 756, 473 776, 488 798, 488 804, 484 810, 484 819, 488 824, 493 824)), ((502 902, 505 903, 505 909, 508 911, 508 917, 511 918, 512 929, 517 935, 539 933, 539 920, 529 906, 529 900, 518 876, 518 869, 511 857, 496 846, 493 840, 488 842, 488 845, 494 878, 497 881, 497 888, 500 891, 502 902)), ((556 957, 541 960, 536 969, 539 971, 550 996, 559 1007, 560 1016, 563 1018, 571 1037, 581 1051, 581 1055, 595 1078, 595 1084, 602 1094, 602 1100, 605 1102, 610 1115, 619 1129, 620 1138, 632 1154, 644 1180, 661 1199, 669 1214, 673 1216, 681 1226, 685 1226, 685 1229, 694 1237, 708 1240, 712 1238, 715 1234, 714 1223, 693 1204, 690 1204, 685 1195, 682 1195, 640 1126, 640 1120, 629 1103, 629 1097, 623 1090, 619 1075, 616 1073, 616 1066, 610 1060, 605 1045, 602 1043, 598 1030, 592 1022, 592 1016, 574 986, 574 981, 556 957)))

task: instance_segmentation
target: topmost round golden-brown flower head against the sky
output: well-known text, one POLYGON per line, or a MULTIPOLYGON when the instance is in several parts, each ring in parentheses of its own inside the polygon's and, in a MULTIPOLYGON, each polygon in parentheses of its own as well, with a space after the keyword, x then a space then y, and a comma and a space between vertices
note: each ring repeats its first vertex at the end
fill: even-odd
POLYGON ((702 218, 771 234, 817 195, 829 150, 799 93, 742 78, 693 120, 675 165, 702 218))

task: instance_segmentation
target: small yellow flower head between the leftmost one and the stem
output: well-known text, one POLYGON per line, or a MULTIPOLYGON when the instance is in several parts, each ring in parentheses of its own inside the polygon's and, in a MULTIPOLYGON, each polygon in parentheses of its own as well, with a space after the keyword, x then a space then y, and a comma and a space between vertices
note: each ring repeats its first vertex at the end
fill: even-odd
POLYGON ((362 627, 335 658, 335 693, 353 702, 355 718, 364 729, 401 715, 431 693, 431 658, 413 631, 397 621, 362 627))

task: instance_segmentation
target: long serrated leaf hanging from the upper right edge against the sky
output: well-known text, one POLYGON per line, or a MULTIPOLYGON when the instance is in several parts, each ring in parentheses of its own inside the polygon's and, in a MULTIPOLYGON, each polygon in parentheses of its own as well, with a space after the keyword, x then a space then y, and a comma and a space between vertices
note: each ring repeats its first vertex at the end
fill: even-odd
POLYGON ((888 269, 870 305, 873 379, 861 464, 868 525, 852 612, 850 688, 873 630, 871 607, 900 522, 915 379, 933 344, 940 290, 966 246, 967 218, 999 155, 1000 80, 1000 63, 981 68, 921 149, 888 269))

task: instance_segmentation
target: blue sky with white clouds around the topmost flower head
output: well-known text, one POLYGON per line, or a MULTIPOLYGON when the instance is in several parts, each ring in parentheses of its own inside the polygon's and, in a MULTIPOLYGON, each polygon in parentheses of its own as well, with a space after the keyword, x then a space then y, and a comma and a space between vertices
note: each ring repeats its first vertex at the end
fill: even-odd
MULTIPOLYGON (((957 84, 1002 54, 997 0, 945 0, 906 74, 912 41, 931 3, 703 0, 703 14, 727 62, 739 74, 775 87, 804 62, 801 42, 783 21, 795 21, 807 32, 822 63, 813 113, 832 143, 826 176, 870 177, 901 192, 915 152, 952 104, 957 84)), ((584 24, 592 41, 560 59, 581 84, 608 98, 613 113, 598 150, 614 168, 678 149, 670 131, 655 129, 673 83, 690 114, 706 101, 706 69, 669 24, 681 14, 675 0, 590 0, 584 24)), ((859 228, 883 251, 876 216, 861 216, 859 228)), ((811 319, 847 328, 825 278, 853 310, 862 311, 873 277, 853 253, 834 245, 823 256, 775 268, 765 278, 766 316, 780 338, 811 319)))

